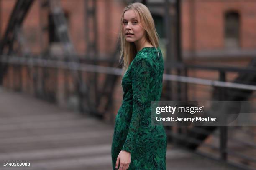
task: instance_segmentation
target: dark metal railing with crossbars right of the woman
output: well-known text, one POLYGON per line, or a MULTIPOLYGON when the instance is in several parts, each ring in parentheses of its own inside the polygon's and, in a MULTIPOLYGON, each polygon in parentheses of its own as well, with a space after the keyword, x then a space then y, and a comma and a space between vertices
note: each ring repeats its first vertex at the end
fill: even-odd
MULTIPOLYGON (((183 93, 179 93, 177 95, 184 95, 185 97, 183 99, 187 100, 187 92, 188 92, 188 85, 189 84, 195 84, 195 85, 206 85, 210 86, 214 89, 213 91, 213 97, 215 97, 215 100, 248 100, 249 97, 255 92, 256 90, 256 60, 252 60, 250 65, 248 67, 243 68, 237 68, 237 67, 230 67, 230 66, 209 66, 209 65, 188 65, 188 64, 173 64, 173 65, 167 65, 169 69, 179 69, 184 71, 184 75, 188 74, 189 70, 210 70, 218 72, 218 80, 205 80, 202 78, 195 78, 195 77, 186 77, 186 76, 177 76, 177 75, 165 75, 164 80, 168 80, 171 82, 177 82, 177 83, 184 83, 185 89, 183 93), (230 72, 236 72, 238 73, 238 77, 233 82, 226 82, 226 75, 230 72), (243 83, 247 84, 243 84, 243 83), (230 91, 233 91, 231 93, 230 91), (228 93, 229 92, 229 93, 228 93)), ((180 84, 179 84, 180 85, 180 84)), ((178 85, 177 85, 178 86, 178 85)), ((168 92, 166 92, 168 93, 168 92)), ((168 93, 169 94, 169 93, 168 93)), ((182 98, 182 96, 179 96, 178 98, 182 98)), ((253 155, 248 156, 243 153, 239 153, 239 151, 236 150, 230 150, 228 148, 228 142, 238 143, 241 147, 250 147, 251 150, 256 151, 256 145, 255 145, 255 135, 256 133, 247 130, 243 131, 244 134, 247 134, 249 138, 254 139, 251 143, 244 140, 244 139, 236 139, 234 137, 228 136, 228 131, 232 130, 233 132, 237 132, 238 130, 242 130, 243 127, 232 127, 232 126, 201 126, 201 127, 177 127, 176 133, 174 133, 175 128, 174 127, 167 127, 166 131, 169 135, 169 140, 173 141, 176 145, 179 145, 182 147, 181 140, 187 141, 189 143, 189 149, 192 149, 195 151, 199 146, 200 147, 208 147, 212 150, 215 150, 218 154, 210 155, 209 153, 205 151, 198 151, 196 150, 195 153, 198 153, 200 155, 207 156, 209 158, 213 158, 215 160, 220 160, 225 163, 228 163, 230 165, 233 165, 235 167, 248 170, 248 169, 256 169, 256 159, 251 158, 253 155), (189 134, 189 133, 190 134, 189 134), (219 132, 219 133, 216 133, 219 132), (214 136, 218 139, 219 145, 212 145, 209 143, 204 143, 204 140, 209 137, 214 136), (180 142, 180 143, 179 143, 180 142), (233 161, 228 158, 230 157, 236 157, 236 159, 241 160, 239 163, 238 161, 233 161)), ((252 154, 252 153, 251 153, 252 154)))

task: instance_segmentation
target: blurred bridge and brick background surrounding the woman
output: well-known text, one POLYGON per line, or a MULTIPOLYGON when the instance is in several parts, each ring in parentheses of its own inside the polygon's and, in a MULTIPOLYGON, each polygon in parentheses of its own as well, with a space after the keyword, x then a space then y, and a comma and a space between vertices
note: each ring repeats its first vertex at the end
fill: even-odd
MULTIPOLYGON (((0 0, 1 170, 111 169, 131 2, 160 37, 161 100, 256 100, 256 0, 0 0)), ((167 170, 256 169, 253 125, 165 129, 167 170)))

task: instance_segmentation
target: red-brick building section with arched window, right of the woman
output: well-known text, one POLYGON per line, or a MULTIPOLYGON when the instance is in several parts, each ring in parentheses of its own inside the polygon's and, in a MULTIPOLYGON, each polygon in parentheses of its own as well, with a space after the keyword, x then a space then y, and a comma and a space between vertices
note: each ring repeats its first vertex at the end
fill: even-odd
POLYGON ((182 10, 184 50, 201 58, 256 55, 256 1, 183 0, 182 10))

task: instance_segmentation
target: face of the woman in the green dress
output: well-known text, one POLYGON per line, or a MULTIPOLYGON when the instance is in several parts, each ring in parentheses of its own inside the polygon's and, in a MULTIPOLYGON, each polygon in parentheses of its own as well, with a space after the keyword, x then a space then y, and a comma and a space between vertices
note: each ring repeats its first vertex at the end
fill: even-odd
POLYGON ((128 42, 140 43, 144 39, 145 30, 141 27, 140 18, 137 18, 134 10, 127 10, 123 15, 123 34, 128 42))

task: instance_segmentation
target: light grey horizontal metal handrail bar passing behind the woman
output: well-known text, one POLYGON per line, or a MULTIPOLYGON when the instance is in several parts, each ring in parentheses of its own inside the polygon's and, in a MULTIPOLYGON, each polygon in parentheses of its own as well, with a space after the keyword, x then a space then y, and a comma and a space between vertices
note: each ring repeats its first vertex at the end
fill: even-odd
MULTIPOLYGON (((56 60, 46 60, 39 58, 26 58, 26 57, 1 57, 1 62, 10 63, 10 64, 19 64, 19 65, 30 65, 30 66, 39 66, 39 67, 51 67, 51 68, 61 68, 69 70, 79 70, 87 72, 98 72, 105 74, 113 75, 122 75, 122 69, 115 67, 106 67, 92 64, 82 64, 77 62, 66 62, 66 61, 56 61, 56 60)), ((186 82, 192 84, 200 85, 209 85, 215 87, 228 87, 235 89, 244 89, 244 90, 256 90, 254 85, 245 85, 233 82, 221 82, 217 80, 207 80, 194 77, 185 77, 178 75, 169 75, 164 74, 163 80, 177 81, 177 82, 186 82)))

